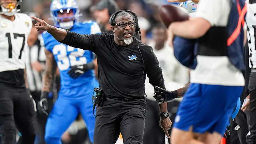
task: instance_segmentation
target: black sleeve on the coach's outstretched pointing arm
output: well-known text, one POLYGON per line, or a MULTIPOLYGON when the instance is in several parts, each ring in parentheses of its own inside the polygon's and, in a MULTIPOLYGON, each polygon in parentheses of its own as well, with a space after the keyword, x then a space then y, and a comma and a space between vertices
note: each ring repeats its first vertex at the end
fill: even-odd
POLYGON ((95 53, 96 51, 96 46, 95 42, 97 39, 99 39, 99 34, 78 34, 74 32, 70 32, 68 30, 67 35, 64 38, 64 40, 60 41, 60 43, 75 47, 75 48, 81 48, 83 50, 90 50, 95 53))

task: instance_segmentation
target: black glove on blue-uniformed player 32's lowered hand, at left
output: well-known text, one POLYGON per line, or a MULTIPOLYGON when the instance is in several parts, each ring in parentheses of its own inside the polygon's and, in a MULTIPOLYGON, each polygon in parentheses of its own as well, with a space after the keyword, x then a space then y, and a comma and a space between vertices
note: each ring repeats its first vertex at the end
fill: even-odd
POLYGON ((48 101, 47 101, 48 92, 41 92, 40 101, 37 104, 37 110, 39 114, 48 116, 48 101))

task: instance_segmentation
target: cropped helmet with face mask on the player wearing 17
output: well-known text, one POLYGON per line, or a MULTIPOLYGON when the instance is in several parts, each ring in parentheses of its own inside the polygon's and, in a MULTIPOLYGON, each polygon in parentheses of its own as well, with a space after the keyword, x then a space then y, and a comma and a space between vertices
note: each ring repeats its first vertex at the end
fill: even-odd
POLYGON ((13 5, 12 3, 2 4, 0 3, 0 14, 7 16, 13 16, 15 13, 20 11, 20 4, 22 0, 17 0, 17 4, 13 5))

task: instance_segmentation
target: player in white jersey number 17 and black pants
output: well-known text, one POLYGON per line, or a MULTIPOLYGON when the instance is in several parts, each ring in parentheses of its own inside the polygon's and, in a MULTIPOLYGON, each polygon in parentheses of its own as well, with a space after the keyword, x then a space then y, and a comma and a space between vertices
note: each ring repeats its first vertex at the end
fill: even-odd
POLYGON ((20 11, 22 0, 0 0, 0 133, 2 144, 33 144, 36 107, 26 81, 25 52, 31 18, 20 11))

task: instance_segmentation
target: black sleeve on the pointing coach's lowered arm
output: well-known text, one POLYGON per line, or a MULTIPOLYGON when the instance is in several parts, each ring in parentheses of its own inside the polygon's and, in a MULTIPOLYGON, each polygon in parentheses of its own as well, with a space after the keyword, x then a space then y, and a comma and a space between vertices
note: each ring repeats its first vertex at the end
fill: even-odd
MULTIPOLYGON (((149 83, 151 85, 159 86, 165 89, 164 78, 162 74, 162 69, 159 66, 159 62, 151 49, 151 51, 146 55, 146 74, 149 78, 149 83)), ((156 91, 156 90, 155 90, 156 91)))

